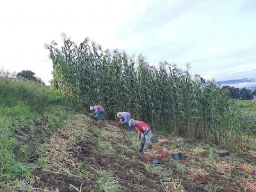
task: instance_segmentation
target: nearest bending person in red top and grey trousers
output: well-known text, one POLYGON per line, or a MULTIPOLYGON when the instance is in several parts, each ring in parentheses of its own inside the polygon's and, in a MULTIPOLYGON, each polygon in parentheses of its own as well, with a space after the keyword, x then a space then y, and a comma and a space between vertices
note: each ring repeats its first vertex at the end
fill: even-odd
POLYGON ((152 143, 151 143, 151 137, 152 137, 152 131, 151 128, 145 124, 144 122, 131 119, 129 121, 129 125, 132 127, 136 127, 136 130, 141 134, 140 136, 140 152, 143 152, 143 148, 145 145, 145 141, 147 141, 148 149, 152 150, 152 143))

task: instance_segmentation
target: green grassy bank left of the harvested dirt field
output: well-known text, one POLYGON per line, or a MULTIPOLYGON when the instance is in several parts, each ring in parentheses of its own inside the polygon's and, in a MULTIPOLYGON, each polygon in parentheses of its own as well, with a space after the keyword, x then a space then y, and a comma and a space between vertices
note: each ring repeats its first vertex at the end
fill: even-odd
POLYGON ((0 190, 22 188, 36 168, 38 147, 75 112, 51 87, 0 77, 0 190))

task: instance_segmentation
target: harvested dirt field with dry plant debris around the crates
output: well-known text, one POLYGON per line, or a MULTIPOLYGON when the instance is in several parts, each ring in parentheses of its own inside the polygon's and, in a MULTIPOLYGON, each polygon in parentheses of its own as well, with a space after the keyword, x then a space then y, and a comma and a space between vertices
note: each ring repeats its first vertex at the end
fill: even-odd
POLYGON ((239 169, 221 173, 214 166, 225 161, 236 168, 241 163, 256 167, 247 152, 230 151, 230 156, 219 157, 213 145, 186 139, 180 145, 175 137, 156 134, 154 138, 168 139, 170 144, 164 148, 182 152, 182 159, 168 156, 161 164, 144 163, 135 131, 129 134, 109 124, 99 128, 88 116, 78 115, 42 147, 44 163, 33 172, 33 187, 36 191, 160 191, 159 180, 171 178, 181 180, 186 191, 244 191, 241 182, 253 178, 239 169), (199 156, 201 149, 208 152, 207 158, 199 156), (196 165, 209 173, 209 182, 198 184, 187 174, 187 168, 196 165))

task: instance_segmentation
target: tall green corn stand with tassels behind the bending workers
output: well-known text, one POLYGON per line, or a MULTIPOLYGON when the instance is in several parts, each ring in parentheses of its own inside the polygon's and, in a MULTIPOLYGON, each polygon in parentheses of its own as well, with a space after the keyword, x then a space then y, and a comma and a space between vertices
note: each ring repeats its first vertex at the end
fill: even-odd
POLYGON ((47 46, 53 63, 52 84, 70 102, 84 108, 100 104, 108 119, 129 111, 153 129, 183 134, 221 145, 241 141, 241 115, 225 92, 206 84, 188 69, 161 62, 159 70, 143 56, 102 51, 86 38, 79 46, 63 38, 59 50, 47 46))

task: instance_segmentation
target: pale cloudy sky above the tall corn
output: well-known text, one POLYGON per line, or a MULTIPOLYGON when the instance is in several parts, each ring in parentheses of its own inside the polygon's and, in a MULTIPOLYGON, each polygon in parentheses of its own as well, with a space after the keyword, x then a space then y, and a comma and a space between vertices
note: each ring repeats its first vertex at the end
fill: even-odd
POLYGON ((61 45, 61 33, 143 54, 150 65, 189 62, 206 79, 256 78, 256 0, 8 0, 0 24, 0 67, 45 82, 52 63, 44 44, 61 45))

